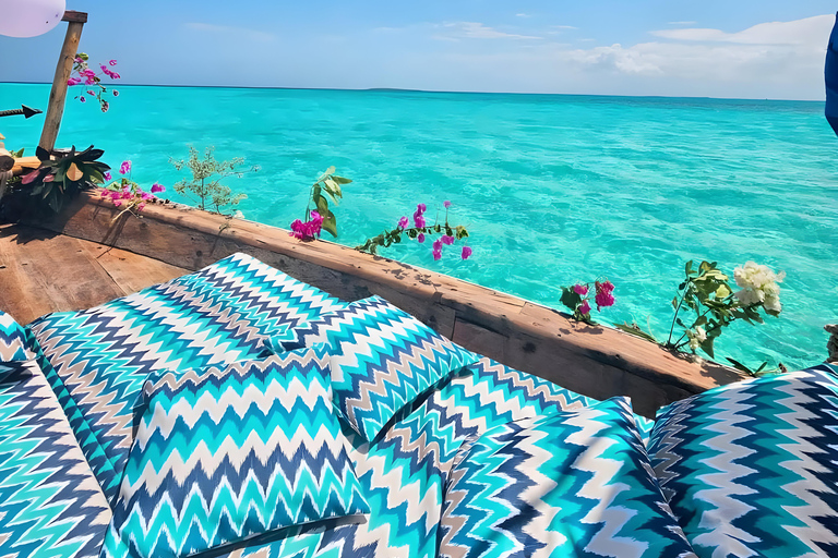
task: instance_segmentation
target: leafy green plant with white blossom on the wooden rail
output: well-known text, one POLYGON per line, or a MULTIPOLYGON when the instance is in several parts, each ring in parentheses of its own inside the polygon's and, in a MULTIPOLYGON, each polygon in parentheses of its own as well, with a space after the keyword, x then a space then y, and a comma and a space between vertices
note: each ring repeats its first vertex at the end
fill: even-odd
MULTIPOLYGON (((786 274, 775 274, 767 266, 747 262, 733 270, 737 286, 734 291, 728 283, 729 276, 723 274, 716 262, 702 262, 698 268, 693 260, 684 266, 684 280, 678 286, 678 293, 672 299, 675 313, 665 342, 660 342, 649 331, 643 331, 637 324, 614 324, 619 329, 659 343, 672 351, 689 350, 693 354, 702 350, 715 359, 714 343, 725 328, 741 319, 747 324, 763 324, 762 308, 768 316, 780 315, 780 287, 786 274), (691 317, 687 317, 691 316, 691 317), (675 326, 680 330, 675 329, 675 326)), ((768 363, 756 369, 727 359, 738 369, 756 375, 764 373, 768 363)), ((783 366, 780 363, 779 369, 783 366)))

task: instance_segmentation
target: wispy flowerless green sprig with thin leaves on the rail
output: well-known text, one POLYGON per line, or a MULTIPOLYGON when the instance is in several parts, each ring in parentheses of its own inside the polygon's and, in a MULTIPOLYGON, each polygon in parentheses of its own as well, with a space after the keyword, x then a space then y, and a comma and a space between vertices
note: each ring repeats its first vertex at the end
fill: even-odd
POLYGON ((241 178, 247 172, 259 171, 259 167, 253 166, 246 170, 237 170, 238 167, 244 165, 243 157, 218 161, 213 155, 215 147, 210 146, 204 150, 204 156, 201 158, 199 150, 190 145, 189 158, 175 159, 170 157, 169 163, 177 170, 188 168, 192 172, 192 180, 183 179, 172 187, 178 194, 194 202, 199 209, 227 215, 224 210, 228 206, 238 205, 248 196, 234 193, 229 186, 222 184, 222 180, 230 177, 241 178))

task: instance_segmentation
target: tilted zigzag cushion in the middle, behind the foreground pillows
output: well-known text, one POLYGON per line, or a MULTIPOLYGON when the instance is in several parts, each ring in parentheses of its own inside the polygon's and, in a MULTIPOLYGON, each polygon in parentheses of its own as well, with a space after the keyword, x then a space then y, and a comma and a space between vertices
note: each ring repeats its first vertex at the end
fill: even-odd
POLYGON ((314 343, 330 347, 335 407, 367 440, 422 391, 480 359, 379 296, 284 329, 266 347, 314 343))

